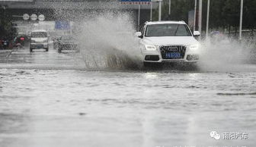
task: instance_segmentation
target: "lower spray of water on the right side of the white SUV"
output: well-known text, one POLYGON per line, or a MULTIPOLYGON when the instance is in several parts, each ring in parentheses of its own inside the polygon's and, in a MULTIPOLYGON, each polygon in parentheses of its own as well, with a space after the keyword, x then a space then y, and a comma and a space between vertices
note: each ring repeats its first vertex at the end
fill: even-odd
POLYGON ((227 37, 202 42, 200 69, 205 71, 245 70, 254 44, 227 37))

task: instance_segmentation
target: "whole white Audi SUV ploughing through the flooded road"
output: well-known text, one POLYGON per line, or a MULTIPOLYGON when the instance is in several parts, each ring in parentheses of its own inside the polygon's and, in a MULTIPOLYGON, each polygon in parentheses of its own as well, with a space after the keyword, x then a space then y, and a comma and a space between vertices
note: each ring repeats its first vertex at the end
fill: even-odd
POLYGON ((199 60, 200 43, 194 36, 200 36, 198 31, 191 33, 184 21, 146 22, 137 32, 141 38, 140 49, 144 64, 155 62, 189 62, 199 60))

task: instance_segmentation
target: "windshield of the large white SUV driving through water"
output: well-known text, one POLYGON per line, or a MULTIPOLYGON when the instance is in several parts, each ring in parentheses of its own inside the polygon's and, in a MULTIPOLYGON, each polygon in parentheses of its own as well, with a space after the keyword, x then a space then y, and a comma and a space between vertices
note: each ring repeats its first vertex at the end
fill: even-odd
POLYGON ((146 28, 145 36, 192 36, 185 24, 151 24, 146 28))

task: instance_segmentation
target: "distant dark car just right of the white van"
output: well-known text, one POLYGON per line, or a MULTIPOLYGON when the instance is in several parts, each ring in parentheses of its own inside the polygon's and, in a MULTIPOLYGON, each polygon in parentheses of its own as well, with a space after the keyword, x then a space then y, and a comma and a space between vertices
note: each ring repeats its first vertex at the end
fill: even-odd
POLYGON ((61 36, 57 40, 57 48, 59 53, 61 53, 63 50, 74 50, 79 52, 78 43, 73 36, 61 36))

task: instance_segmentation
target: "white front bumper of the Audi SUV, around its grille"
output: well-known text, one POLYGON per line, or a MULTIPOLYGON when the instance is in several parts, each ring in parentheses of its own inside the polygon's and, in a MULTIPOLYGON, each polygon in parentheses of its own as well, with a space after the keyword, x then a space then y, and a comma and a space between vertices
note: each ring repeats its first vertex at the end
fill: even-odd
POLYGON ((142 51, 143 61, 144 62, 188 62, 194 63, 199 61, 200 59, 200 52, 199 51, 187 51, 184 54, 183 58, 178 59, 165 59, 162 58, 162 54, 159 50, 155 51, 142 51))

